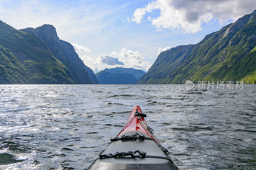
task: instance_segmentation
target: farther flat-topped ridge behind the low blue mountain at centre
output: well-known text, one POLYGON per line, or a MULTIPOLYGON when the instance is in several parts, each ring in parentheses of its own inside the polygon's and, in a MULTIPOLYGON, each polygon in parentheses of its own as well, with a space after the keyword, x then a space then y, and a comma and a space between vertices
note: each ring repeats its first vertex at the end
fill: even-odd
POLYGON ((133 69, 133 68, 123 68, 123 67, 116 67, 116 68, 112 68, 112 69, 106 68, 106 69, 104 69, 104 71, 108 71, 108 72, 115 73, 115 74, 130 73, 130 74, 134 75, 137 79, 140 79, 141 76, 146 74, 146 72, 144 72, 142 70, 133 69))

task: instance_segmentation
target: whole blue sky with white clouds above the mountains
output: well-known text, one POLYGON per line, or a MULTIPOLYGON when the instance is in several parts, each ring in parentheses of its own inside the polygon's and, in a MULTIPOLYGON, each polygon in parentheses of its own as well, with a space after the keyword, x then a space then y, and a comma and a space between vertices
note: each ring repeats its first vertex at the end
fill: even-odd
POLYGON ((256 0, 0 0, 0 20, 16 29, 51 24, 94 73, 148 71, 159 53, 196 44, 256 10, 256 0))

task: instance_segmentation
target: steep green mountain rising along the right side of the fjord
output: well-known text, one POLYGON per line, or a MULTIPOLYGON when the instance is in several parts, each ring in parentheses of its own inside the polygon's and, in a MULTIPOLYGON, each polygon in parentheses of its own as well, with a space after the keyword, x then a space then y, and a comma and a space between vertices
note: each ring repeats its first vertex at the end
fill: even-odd
POLYGON ((256 10, 197 44, 171 48, 135 84, 197 81, 256 83, 256 10))

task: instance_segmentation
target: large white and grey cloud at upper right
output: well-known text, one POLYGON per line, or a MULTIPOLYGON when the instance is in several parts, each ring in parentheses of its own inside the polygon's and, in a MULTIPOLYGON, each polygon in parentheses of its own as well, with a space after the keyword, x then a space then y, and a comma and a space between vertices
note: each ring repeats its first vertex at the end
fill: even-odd
POLYGON ((196 33, 202 24, 212 24, 215 19, 220 24, 237 20, 255 10, 255 0, 156 0, 134 11, 133 22, 141 23, 146 13, 160 10, 157 17, 148 20, 158 31, 161 29, 180 30, 183 33, 196 33))

